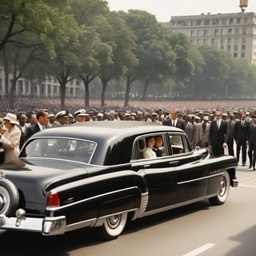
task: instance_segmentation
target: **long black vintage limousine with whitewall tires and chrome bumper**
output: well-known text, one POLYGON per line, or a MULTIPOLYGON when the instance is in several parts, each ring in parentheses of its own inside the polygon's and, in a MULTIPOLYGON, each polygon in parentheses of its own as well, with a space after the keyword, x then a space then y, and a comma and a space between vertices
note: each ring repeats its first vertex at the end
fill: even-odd
POLYGON ((46 129, 0 166, 0 229, 64 234, 97 227, 118 238, 128 220, 209 199, 238 186, 237 159, 193 150, 178 128, 150 122, 84 122, 46 129), (146 139, 162 156, 144 158, 146 139))

